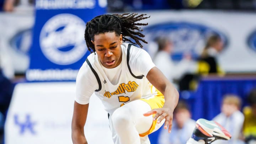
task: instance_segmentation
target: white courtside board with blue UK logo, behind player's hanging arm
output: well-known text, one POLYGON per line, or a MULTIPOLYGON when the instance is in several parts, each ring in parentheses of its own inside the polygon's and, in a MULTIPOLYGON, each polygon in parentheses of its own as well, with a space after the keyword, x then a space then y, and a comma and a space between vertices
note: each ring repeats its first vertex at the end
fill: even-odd
MULTIPOLYGON (((15 87, 5 123, 5 144, 71 144, 75 82, 15 87)), ((112 144, 107 112, 92 95, 85 126, 90 144, 112 144)))

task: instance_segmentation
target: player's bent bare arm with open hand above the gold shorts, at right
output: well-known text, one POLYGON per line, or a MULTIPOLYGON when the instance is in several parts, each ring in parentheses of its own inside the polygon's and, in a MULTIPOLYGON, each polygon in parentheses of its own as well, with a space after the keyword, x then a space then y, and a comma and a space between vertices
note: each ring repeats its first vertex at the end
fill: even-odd
POLYGON ((155 114, 153 121, 158 119, 160 123, 165 118, 164 128, 168 128, 168 132, 171 132, 172 118, 174 109, 178 103, 179 94, 175 87, 169 80, 162 74, 162 72, 154 67, 152 68, 146 78, 149 82, 156 87, 165 97, 165 104, 162 108, 157 108, 144 114, 144 116, 150 116, 155 114))

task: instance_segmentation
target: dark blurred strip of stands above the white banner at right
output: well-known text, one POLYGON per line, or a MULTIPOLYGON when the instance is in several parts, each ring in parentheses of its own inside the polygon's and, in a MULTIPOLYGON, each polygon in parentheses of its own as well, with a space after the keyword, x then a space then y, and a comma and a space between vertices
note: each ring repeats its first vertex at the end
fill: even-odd
POLYGON ((108 0, 108 11, 158 9, 255 10, 255 0, 108 0))

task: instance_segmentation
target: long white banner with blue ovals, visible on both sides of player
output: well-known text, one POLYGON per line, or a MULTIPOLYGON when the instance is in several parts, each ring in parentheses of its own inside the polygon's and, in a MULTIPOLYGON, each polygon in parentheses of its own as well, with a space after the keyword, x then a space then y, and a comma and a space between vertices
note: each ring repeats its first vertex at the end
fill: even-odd
MULTIPOLYGON (((144 45, 144 48, 151 56, 157 50, 153 43, 156 36, 167 34, 167 37, 174 41, 175 53, 192 51, 199 54, 206 37, 214 32, 220 34, 226 42, 225 49, 219 55, 219 63, 225 71, 256 71, 254 66, 256 63, 256 15, 254 12, 180 10, 139 13, 151 16, 144 20, 149 25, 143 27, 145 39, 149 42, 144 45)), ((4 21, 0 23, 1 65, 4 67, 4 72, 10 73, 11 77, 14 70, 25 72, 28 68, 29 59, 26 54, 31 44, 29 30, 33 27, 34 17, 0 13, 0 18, 4 21)), ((37 73, 32 71, 31 75, 35 74, 37 73)))

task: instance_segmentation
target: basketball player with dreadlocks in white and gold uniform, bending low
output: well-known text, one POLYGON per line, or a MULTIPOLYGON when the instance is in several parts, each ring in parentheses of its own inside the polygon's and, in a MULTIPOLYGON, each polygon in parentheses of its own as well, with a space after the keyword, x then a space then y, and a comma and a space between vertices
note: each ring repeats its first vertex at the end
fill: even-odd
MULTIPOLYGON (((145 50, 124 43, 129 41, 140 47, 140 42, 147 43, 141 38, 144 35, 138 26, 148 24, 136 23, 146 18, 149 17, 138 14, 100 15, 87 22, 85 41, 92 53, 76 79, 72 119, 74 144, 87 144, 84 125, 93 93, 109 114, 114 144, 150 144, 148 134, 159 129, 164 122, 164 128, 170 133, 178 91, 155 67, 145 50)), ((196 135, 193 136, 196 140, 191 138, 188 143, 207 142, 208 137, 214 141, 213 126, 220 128, 210 121, 198 120, 196 135)), ((225 136, 222 131, 219 137, 225 136)))

